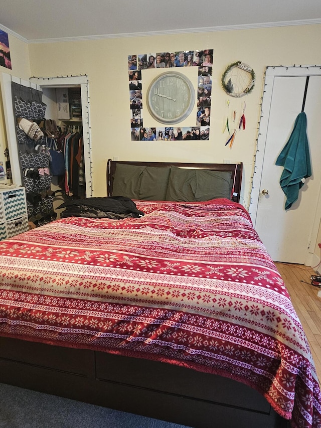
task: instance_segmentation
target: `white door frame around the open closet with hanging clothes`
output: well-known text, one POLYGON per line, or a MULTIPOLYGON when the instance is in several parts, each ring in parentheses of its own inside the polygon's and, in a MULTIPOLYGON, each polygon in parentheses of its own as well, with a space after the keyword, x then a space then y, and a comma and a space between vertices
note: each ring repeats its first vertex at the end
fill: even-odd
POLYGON ((19 165, 19 153, 16 135, 16 121, 14 116, 13 99, 12 99, 12 82, 32 87, 42 91, 42 88, 66 88, 80 86, 81 104, 82 104, 82 129, 84 143, 84 164, 86 176, 86 196, 93 196, 93 169, 91 162, 91 133, 89 126, 89 87, 87 76, 70 76, 70 77, 32 77, 30 80, 23 80, 8 73, 0 73, 0 84, 3 95, 3 105, 5 114, 5 123, 7 131, 8 149, 12 165, 13 182, 22 186, 22 177, 19 165))

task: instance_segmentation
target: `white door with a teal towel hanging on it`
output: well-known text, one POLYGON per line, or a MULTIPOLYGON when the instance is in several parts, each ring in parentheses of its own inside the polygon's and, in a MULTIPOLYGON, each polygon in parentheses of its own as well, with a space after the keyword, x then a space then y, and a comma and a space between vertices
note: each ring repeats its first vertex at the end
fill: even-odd
POLYGON ((309 76, 308 81, 306 76, 274 78, 255 222, 255 229, 274 261, 306 261, 321 183, 320 111, 321 76, 309 76), (300 189, 298 200, 285 211, 286 198, 279 184, 283 167, 276 166, 275 161, 301 112, 306 83, 304 112, 312 176, 300 189), (262 194, 263 190, 268 195, 262 194))

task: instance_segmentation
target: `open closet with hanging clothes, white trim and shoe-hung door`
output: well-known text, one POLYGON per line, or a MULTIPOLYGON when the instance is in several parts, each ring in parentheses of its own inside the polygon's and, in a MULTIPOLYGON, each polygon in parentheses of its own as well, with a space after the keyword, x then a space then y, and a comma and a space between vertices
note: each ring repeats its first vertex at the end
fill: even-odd
MULTIPOLYGON (((34 219, 35 216, 38 216, 41 219, 41 225, 56 218, 57 212, 59 216, 59 210, 56 208, 63 202, 62 195, 77 199, 92 196, 87 77, 31 78, 30 81, 24 81, 7 73, 1 73, 0 82, 12 180, 17 185, 25 187, 28 217, 34 219), (13 91, 15 86, 20 87, 22 92, 34 92, 38 96, 36 113, 39 113, 39 116, 33 116, 31 119, 35 119, 44 133, 44 137, 38 141, 39 145, 35 141, 29 140, 28 136, 17 126, 17 100, 15 105, 13 91), (43 108, 42 111, 40 111, 41 108, 43 108), (40 120, 41 118, 44 120, 40 120), (23 152, 25 154, 22 154, 23 145, 19 144, 19 136, 27 138, 24 141, 23 152), (26 142, 33 143, 28 147, 40 146, 41 148, 37 147, 37 151, 32 150, 33 153, 29 154, 26 151, 26 142), (38 158, 41 165, 36 162, 38 158), (56 168, 59 165, 61 167, 61 161, 65 164, 63 174, 57 172, 56 168), (35 166, 31 164, 35 164, 35 166), (42 173, 44 168, 45 175, 41 175, 40 180, 35 180, 32 176, 33 172, 29 171, 30 169, 34 169, 36 172, 41 170, 42 173), (47 168, 50 171, 49 175, 47 168), (46 183, 41 183, 41 181, 46 183), (33 203, 32 198, 29 198, 30 202, 28 202, 28 196, 32 196, 32 192, 42 195, 39 206, 33 203), (41 216, 44 213, 48 213, 46 219, 41 216), (52 214, 51 218, 49 218, 49 213, 52 214)), ((26 114, 28 116, 29 112, 20 111, 18 114, 24 117, 26 114)))

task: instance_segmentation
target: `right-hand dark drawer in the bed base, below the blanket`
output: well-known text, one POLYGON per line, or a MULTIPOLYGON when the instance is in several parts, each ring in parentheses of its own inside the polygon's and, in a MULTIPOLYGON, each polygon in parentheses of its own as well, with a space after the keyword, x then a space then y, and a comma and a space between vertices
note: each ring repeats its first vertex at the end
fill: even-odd
POLYGON ((121 381, 126 385, 157 389, 193 399, 209 401, 209 397, 213 397, 213 403, 228 403, 250 411, 270 412, 270 405, 265 398, 250 387, 233 379, 168 363, 96 352, 96 376, 101 380, 121 381), (181 371, 179 381, 178 371, 181 371))

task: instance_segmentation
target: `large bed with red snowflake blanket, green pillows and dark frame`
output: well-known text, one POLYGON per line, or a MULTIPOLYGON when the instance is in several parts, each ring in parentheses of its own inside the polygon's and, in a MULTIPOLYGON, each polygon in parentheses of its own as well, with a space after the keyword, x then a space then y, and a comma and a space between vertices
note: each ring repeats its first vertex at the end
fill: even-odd
POLYGON ((241 180, 241 163, 109 160, 108 198, 0 242, 0 382, 196 428, 319 427, 241 180))

